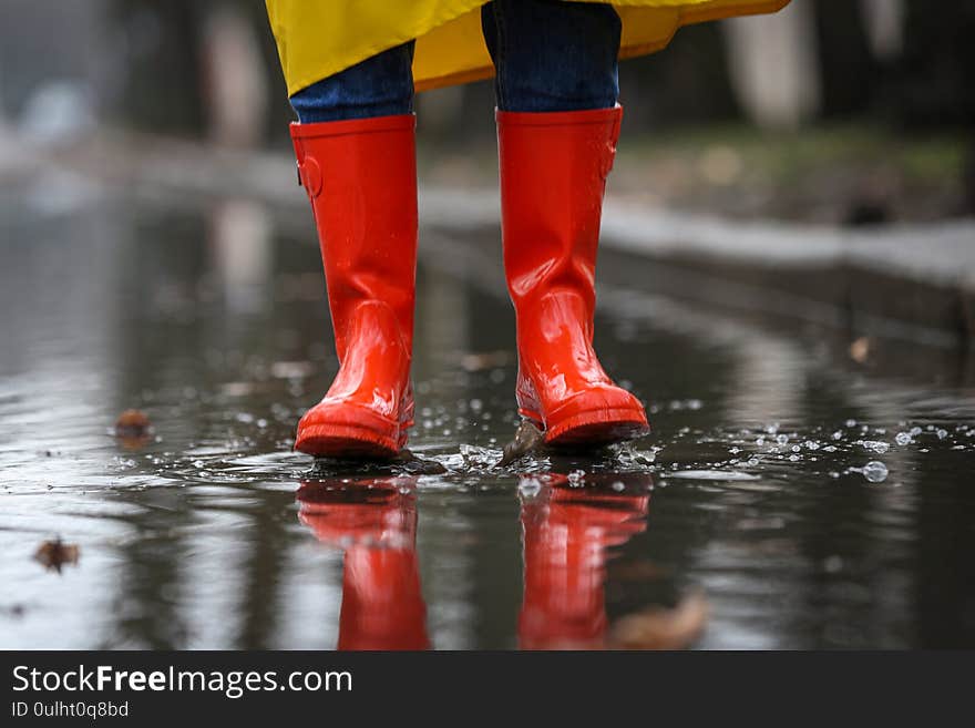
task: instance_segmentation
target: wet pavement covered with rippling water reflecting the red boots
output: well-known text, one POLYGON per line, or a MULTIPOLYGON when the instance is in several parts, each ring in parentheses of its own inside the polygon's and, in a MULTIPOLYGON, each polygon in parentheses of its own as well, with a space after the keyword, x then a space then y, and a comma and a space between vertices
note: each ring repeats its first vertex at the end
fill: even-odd
POLYGON ((597 349, 654 433, 497 468, 500 249, 429 230, 420 461, 315 465, 294 425, 337 362, 307 219, 48 187, 0 221, 2 647, 975 645, 962 355, 853 361, 607 256, 629 275, 602 281, 597 349), (130 408, 147 438, 115 435, 130 408), (59 536, 60 570, 35 557, 59 536))

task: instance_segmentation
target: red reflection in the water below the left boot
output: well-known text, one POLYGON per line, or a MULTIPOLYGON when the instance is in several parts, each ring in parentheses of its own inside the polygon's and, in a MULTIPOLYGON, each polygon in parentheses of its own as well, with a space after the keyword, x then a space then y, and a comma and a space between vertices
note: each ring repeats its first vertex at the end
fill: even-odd
POLYGON ((339 649, 427 649, 417 562, 415 478, 306 482, 298 517, 345 550, 339 649), (369 485, 372 488, 368 488, 369 485))

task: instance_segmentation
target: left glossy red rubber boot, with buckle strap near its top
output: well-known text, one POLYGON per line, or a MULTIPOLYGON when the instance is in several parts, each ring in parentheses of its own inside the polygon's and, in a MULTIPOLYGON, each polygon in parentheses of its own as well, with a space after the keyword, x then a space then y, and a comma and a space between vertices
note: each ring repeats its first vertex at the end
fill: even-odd
POLYGON ((412 114, 291 124, 339 359, 325 399, 298 423, 301 452, 392 458, 413 423, 414 125, 412 114))

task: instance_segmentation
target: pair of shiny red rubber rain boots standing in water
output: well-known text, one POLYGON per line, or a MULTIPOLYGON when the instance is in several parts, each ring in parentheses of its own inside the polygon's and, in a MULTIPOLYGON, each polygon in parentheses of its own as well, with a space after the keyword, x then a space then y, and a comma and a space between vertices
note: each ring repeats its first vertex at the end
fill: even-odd
MULTIPOLYGON (((648 431, 593 350, 606 176, 623 110, 497 112, 502 238, 517 321, 519 410, 553 445, 648 431)), ((417 265, 413 115, 292 124, 311 199, 339 371, 298 423, 312 455, 391 458, 413 422, 417 265)))

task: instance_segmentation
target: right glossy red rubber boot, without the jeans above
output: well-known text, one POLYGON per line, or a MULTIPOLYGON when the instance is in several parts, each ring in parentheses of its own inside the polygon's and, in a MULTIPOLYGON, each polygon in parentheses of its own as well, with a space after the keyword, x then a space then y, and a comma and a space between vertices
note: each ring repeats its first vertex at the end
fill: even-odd
POLYGON ((517 401, 555 445, 649 431, 593 350, 596 250, 623 110, 497 112, 501 222, 517 319, 517 401))

